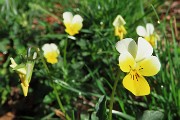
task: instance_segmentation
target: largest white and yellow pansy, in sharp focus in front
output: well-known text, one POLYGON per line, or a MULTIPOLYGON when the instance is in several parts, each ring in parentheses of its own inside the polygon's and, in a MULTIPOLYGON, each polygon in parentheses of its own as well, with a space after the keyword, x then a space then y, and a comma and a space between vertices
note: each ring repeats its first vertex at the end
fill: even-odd
POLYGON ((143 76, 153 76, 160 70, 161 64, 156 56, 152 56, 152 46, 142 37, 138 44, 131 38, 116 43, 120 53, 119 66, 128 74, 123 79, 123 86, 135 96, 150 94, 150 87, 143 76))

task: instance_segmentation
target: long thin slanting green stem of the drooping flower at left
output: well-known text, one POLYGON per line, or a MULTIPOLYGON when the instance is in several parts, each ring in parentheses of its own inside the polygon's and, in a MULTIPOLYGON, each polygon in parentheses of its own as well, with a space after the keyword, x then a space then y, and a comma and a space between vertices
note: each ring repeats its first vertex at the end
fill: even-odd
MULTIPOLYGON (((42 63, 43 63, 43 66, 45 67, 46 72, 47 72, 47 74, 48 74, 48 76, 49 76, 50 71, 49 71, 49 68, 48 68, 48 66, 47 66, 47 64, 46 64, 43 56, 41 55, 40 52, 38 52, 38 55, 40 56, 41 61, 42 61, 42 63)), ((57 101, 58 101, 59 107, 60 107, 60 109, 62 110, 62 112, 65 114, 66 120, 71 120, 70 117, 68 116, 68 114, 66 114, 66 111, 65 111, 65 109, 64 109, 64 107, 63 107, 63 105, 62 105, 61 99, 59 98, 58 91, 57 91, 57 88, 56 88, 56 86, 55 86, 54 83, 52 83, 52 87, 53 87, 53 89, 54 89, 54 92, 55 92, 56 99, 57 99, 57 101)))

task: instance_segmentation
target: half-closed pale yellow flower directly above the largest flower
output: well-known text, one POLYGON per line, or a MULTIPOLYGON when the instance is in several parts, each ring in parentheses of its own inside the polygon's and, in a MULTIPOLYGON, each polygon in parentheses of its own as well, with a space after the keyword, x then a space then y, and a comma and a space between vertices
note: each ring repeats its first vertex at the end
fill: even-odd
POLYGON ((124 35, 127 34, 127 31, 124 28, 125 24, 126 22, 121 15, 118 15, 113 22, 113 26, 115 27, 115 36, 119 36, 120 39, 123 39, 124 35))

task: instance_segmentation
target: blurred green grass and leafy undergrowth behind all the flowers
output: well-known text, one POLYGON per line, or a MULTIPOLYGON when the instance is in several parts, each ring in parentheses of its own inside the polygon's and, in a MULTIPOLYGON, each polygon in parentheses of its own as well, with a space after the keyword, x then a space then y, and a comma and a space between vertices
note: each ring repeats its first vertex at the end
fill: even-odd
POLYGON ((106 108, 115 79, 119 79, 113 119, 144 119, 150 112, 159 119, 180 117, 179 1, 165 0, 0 0, 0 119, 63 119, 50 83, 53 81, 64 108, 74 120, 96 119, 99 98, 105 95, 106 108), (68 37, 62 13, 80 14, 83 29, 68 37), (147 80, 151 94, 135 97, 122 85, 124 73, 118 67, 112 25, 121 14, 127 35, 137 40, 136 27, 153 23, 160 36, 154 51, 161 71, 147 80), (9 67, 10 57, 18 62, 30 46, 55 43, 61 56, 48 64, 50 76, 36 61, 30 90, 23 96, 18 75, 9 67), (67 48, 65 46, 67 44, 67 48), (64 51, 67 64, 64 65, 64 51), (98 104, 97 104, 98 103, 98 104), (155 113, 155 114, 154 114, 155 113))

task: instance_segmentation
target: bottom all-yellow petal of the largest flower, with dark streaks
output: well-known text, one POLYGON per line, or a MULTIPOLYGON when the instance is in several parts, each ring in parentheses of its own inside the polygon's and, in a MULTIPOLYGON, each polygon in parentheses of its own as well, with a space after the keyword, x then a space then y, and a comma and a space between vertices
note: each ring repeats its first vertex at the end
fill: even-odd
POLYGON ((131 91, 135 96, 144 96, 150 94, 150 87, 143 76, 136 77, 129 73, 123 79, 123 85, 126 89, 131 91))

